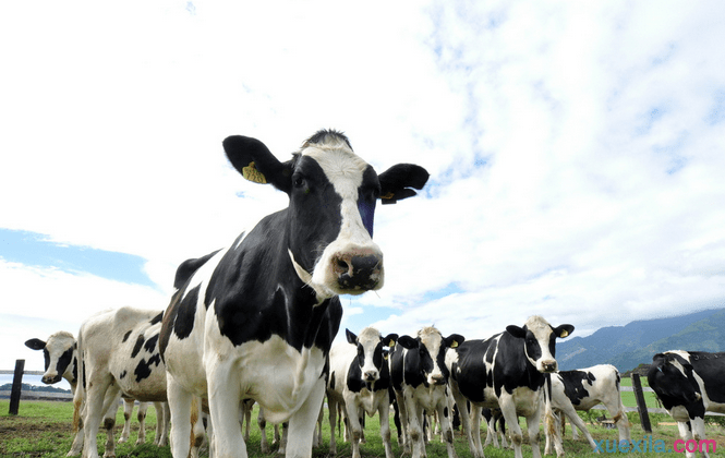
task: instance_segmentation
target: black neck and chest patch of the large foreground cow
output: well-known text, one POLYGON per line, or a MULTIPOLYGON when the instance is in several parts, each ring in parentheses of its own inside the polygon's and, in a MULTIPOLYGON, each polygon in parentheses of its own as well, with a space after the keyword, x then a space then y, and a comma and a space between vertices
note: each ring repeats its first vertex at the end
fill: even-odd
POLYGON ((234 243, 209 281, 207 306, 214 303, 220 332, 234 346, 273 335, 298 351, 327 346, 318 333, 328 325, 330 303, 339 305, 339 299, 319 301, 300 279, 288 252, 287 213, 265 217, 234 243))

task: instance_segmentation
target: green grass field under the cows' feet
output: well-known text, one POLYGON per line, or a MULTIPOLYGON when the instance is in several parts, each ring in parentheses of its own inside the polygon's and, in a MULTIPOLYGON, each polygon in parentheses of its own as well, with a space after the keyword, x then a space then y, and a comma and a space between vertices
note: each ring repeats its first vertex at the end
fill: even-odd
MULTIPOLYGON (((73 407, 71 402, 52 402, 52 401, 23 401, 21 402, 20 413, 17 417, 8 415, 9 402, 7 400, 0 401, 0 458, 25 458, 25 457, 49 457, 61 458, 64 457, 70 449, 72 442, 71 419, 73 417, 73 407)), ((134 411, 135 414, 135 411, 134 411)), ((632 422, 632 439, 643 441, 642 444, 650 441, 650 435, 643 433, 639 426, 639 419, 637 413, 630 413, 629 419, 632 422)), ((392 424, 392 422, 390 422, 392 424)), ((523 422, 522 422, 523 423, 523 422)), ((120 430, 123 424, 122 410, 119 410, 117 417, 117 432, 116 439, 120 436, 120 430)), ((653 442, 663 441, 668 449, 672 449, 674 441, 678 438, 677 427, 672 424, 672 419, 667 415, 652 415, 653 433, 651 438, 653 442)), ((153 445, 154 429, 156 426, 156 412, 153 408, 148 409, 148 417, 146 421, 147 435, 146 444, 135 445, 138 423, 132 421, 132 433, 129 443, 120 444, 117 446, 117 457, 170 457, 169 448, 159 448, 153 445)), ((376 419, 367 419, 365 427, 365 436, 367 442, 361 446, 361 453, 364 458, 384 457, 385 451, 383 448, 382 439, 378 434, 379 424, 376 419)), ((267 427, 267 435, 271 439, 271 427, 267 427)), ((577 456, 593 456, 589 444, 583 438, 579 441, 571 439, 571 430, 567 427, 567 436, 565 437, 564 448, 568 457, 577 456)), ((616 430, 607 430, 600 425, 592 425, 590 427, 595 441, 609 441, 614 444, 617 439, 616 430)), ((313 457, 327 457, 329 446, 329 425, 327 419, 324 422, 324 445, 313 450, 313 457)), ((402 455, 402 449, 398 447, 395 441, 395 429, 392 439, 392 451, 396 457, 402 455)), ((485 437, 485 432, 484 432, 485 437)), ((725 450, 725 431, 717 425, 708 426, 708 437, 716 441, 717 445, 723 446, 725 450)), ((252 417, 251 437, 247 443, 247 453, 252 458, 269 457, 273 455, 263 455, 259 451, 259 430, 256 426, 256 411, 252 417)), ((106 441, 105 433, 99 433, 99 455, 102 456, 102 447, 106 441)), ((467 441, 460 435, 456 434, 456 451, 459 457, 470 457, 467 441)), ((541 435, 541 450, 543 453, 544 438, 541 435)), ((487 458, 512 457, 513 451, 510 449, 502 450, 493 447, 487 447, 485 450, 487 458)), ((523 447, 524 457, 531 457, 531 448, 528 445, 523 447)), ((606 454, 609 455, 609 454, 606 454)), ((615 455, 625 455, 616 453, 615 455)), ((627 455, 636 455, 637 457, 663 457, 663 456, 681 456, 676 453, 641 453, 635 451, 627 455)), ((203 456, 206 457, 207 451, 203 450, 203 456)), ((351 456, 349 444, 338 439, 338 457, 347 458, 351 456)), ((428 458, 446 458, 446 447, 438 439, 434 439, 427 446, 428 458)), ((725 456, 718 450, 717 454, 711 454, 712 457, 725 456)))

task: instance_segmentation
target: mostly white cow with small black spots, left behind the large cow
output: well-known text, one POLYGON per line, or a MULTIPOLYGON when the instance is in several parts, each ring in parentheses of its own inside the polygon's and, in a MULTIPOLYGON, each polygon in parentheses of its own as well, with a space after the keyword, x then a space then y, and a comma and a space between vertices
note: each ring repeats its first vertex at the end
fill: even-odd
MULTIPOLYGON (((162 314, 121 308, 100 312, 81 325, 77 360, 85 383, 75 389, 73 417, 85 426, 84 457, 98 456, 96 431, 109 411, 113 415, 106 415, 104 422, 112 431, 122 394, 142 402, 166 401, 166 370, 157 345, 162 314)), ((158 422, 165 423, 164 409, 157 407, 157 411, 161 413, 158 422)), ((166 443, 166 431, 162 424, 157 444, 166 443)), ((113 454, 108 448, 107 442, 105 456, 113 454)))

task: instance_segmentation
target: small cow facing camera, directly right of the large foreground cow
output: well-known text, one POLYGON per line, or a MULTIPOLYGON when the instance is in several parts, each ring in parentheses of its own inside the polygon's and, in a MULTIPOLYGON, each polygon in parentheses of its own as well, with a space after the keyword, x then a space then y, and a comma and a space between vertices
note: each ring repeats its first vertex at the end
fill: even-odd
POLYGON ((390 446, 390 371, 384 357, 383 347, 392 347, 397 334, 383 337, 373 328, 364 328, 360 335, 346 329, 347 342, 333 347, 329 352, 330 376, 327 383, 327 406, 329 408, 330 455, 337 454, 335 423, 337 407, 342 407, 348 429, 352 432, 352 458, 360 458, 362 420, 367 413, 379 413, 380 436, 385 446, 385 457, 392 458, 390 446))

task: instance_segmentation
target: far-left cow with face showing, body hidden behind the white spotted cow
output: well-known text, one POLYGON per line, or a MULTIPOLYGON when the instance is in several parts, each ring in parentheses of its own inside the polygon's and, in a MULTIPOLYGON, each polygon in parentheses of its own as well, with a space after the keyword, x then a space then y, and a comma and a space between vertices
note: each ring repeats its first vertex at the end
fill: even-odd
MULTIPOLYGON (((25 346, 32 350, 43 350, 45 357, 45 370, 46 370, 45 374, 43 374, 41 377, 43 383, 47 385, 52 385, 60 382, 62 378, 65 378, 65 381, 71 386, 71 393, 75 395, 75 389, 77 387, 77 382, 78 382, 77 342, 75 340, 75 337, 73 337, 71 333, 61 330, 52 334, 50 337, 48 337, 47 340, 41 340, 38 338, 28 339, 25 342, 25 346)), ((125 409, 124 409, 125 422, 123 425, 123 432, 121 434, 119 443, 128 441, 129 432, 131 431, 130 419, 131 419, 131 409, 133 409, 134 406, 134 400, 126 398, 124 399, 124 401, 125 401, 125 409)), ((116 412, 118 410, 118 402, 112 402, 112 399, 109 399, 108 403, 110 405, 110 408, 106 412, 106 415, 104 417, 104 425, 106 426, 106 433, 108 436, 108 441, 110 442, 110 443, 107 442, 106 444, 105 455, 107 456, 112 455, 116 448, 113 445, 112 427, 116 422, 116 412)), ((142 402, 138 406, 140 430, 138 430, 138 439, 136 441, 136 444, 145 442, 146 438, 146 430, 145 430, 146 408, 147 408, 146 402, 142 402)), ((166 434, 164 434, 164 432, 167 431, 167 427, 165 427, 165 423, 162 421, 164 419, 162 410, 160 410, 162 408, 160 406, 156 406, 156 409, 157 412, 159 412, 159 415, 156 424, 156 438, 154 439, 154 444, 164 446, 167 445, 166 434)), ((168 419, 168 415, 166 417, 166 419, 168 419)), ((168 426, 168 422, 166 423, 166 426, 168 426)), ((81 451, 83 450, 83 437, 84 437, 83 423, 81 422, 73 438, 73 444, 71 445, 71 449, 68 453, 69 457, 77 456, 81 454, 81 451)))

